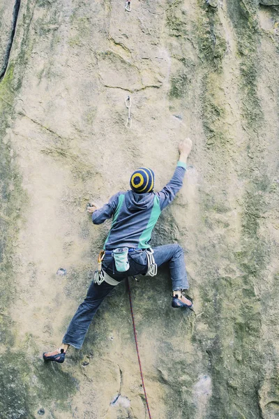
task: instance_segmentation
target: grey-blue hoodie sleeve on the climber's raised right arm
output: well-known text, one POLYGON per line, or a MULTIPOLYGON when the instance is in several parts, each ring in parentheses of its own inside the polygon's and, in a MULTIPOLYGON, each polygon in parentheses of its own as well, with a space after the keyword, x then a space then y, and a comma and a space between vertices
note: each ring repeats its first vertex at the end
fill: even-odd
POLYGON ((169 183, 165 186, 165 188, 162 189, 162 191, 156 193, 159 198, 161 210, 167 207, 167 205, 169 205, 174 200, 176 193, 181 189, 185 172, 186 163, 179 161, 177 163, 172 179, 170 179, 169 183))

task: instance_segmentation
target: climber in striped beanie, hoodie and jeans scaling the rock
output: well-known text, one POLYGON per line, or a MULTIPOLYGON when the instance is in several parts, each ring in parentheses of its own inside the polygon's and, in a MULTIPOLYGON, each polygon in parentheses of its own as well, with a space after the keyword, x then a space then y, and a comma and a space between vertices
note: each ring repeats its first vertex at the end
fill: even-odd
POLYGON ((176 170, 162 191, 153 192, 153 171, 140 168, 130 178, 130 191, 116 193, 100 209, 96 205, 87 208, 94 224, 112 218, 112 227, 84 302, 73 316, 61 346, 56 351, 44 353, 44 360, 61 363, 69 346, 80 349, 93 316, 114 286, 137 274, 153 276, 157 266, 163 263, 168 263, 172 279, 172 307, 192 307, 192 301, 183 295, 183 290, 188 289, 188 280, 181 246, 165 244, 151 249, 149 245, 160 212, 181 189, 191 148, 189 138, 181 142, 176 170))

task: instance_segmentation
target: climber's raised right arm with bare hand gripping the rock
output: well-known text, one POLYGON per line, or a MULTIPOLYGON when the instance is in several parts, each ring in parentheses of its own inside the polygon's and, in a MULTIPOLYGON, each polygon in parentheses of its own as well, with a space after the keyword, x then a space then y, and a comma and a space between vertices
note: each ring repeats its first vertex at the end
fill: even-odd
POLYGON ((169 205, 176 193, 181 189, 183 185, 183 177, 186 172, 186 162, 188 155, 190 154, 192 148, 192 141, 190 138, 186 138, 181 144, 179 144, 179 161, 174 172, 172 179, 169 183, 162 189, 162 191, 157 193, 157 196, 160 201, 160 209, 163 210, 167 205, 169 205))

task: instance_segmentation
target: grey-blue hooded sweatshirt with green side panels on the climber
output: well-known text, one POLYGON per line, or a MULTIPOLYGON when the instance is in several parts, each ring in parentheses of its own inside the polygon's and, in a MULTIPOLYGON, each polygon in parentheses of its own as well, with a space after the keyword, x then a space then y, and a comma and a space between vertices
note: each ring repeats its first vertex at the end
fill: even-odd
POLYGON ((118 192, 100 210, 93 212, 94 224, 101 224, 113 217, 104 249, 112 250, 117 247, 148 249, 151 233, 160 213, 174 200, 176 193, 181 189, 185 172, 186 163, 179 161, 172 179, 162 191, 118 192))

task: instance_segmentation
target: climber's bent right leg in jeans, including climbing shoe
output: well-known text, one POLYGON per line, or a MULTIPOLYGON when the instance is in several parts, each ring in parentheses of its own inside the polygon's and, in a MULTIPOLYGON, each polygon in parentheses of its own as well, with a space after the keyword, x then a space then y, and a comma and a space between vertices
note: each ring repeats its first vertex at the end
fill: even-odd
POLYGON ((192 302, 182 294, 182 290, 189 288, 182 247, 179 244, 165 244, 165 246, 153 248, 153 251, 154 259, 158 266, 168 262, 173 296, 182 303, 178 302, 180 305, 175 307, 191 307, 192 302))

